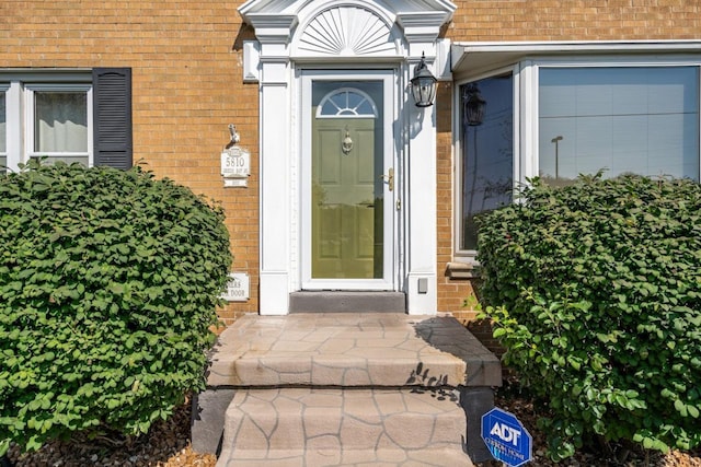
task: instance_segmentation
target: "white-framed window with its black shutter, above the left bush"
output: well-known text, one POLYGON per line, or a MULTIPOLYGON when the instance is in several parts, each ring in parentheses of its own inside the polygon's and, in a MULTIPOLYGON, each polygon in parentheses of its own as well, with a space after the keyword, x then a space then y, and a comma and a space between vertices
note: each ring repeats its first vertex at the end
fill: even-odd
POLYGON ((130 70, 0 70, 0 166, 32 157, 129 167, 130 70))

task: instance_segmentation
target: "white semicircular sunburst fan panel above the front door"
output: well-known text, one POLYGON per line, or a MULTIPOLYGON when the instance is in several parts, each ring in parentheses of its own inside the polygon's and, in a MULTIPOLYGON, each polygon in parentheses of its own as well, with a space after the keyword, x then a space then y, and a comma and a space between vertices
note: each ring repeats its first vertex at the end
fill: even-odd
POLYGON ((390 26, 364 8, 335 7, 314 16, 299 50, 331 56, 394 55, 390 26))

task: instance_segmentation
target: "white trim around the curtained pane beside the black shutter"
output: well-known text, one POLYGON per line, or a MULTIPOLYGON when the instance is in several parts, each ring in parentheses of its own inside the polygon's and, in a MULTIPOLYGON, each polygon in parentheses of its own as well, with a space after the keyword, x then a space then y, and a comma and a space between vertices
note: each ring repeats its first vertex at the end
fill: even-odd
POLYGON ((24 129, 25 136, 24 141, 26 144, 26 150, 24 151, 25 160, 23 162, 27 162, 30 157, 47 155, 51 156, 66 156, 66 157, 84 157, 88 156, 88 166, 92 167, 93 165, 93 128, 92 128, 92 85, 91 84, 65 84, 65 83, 46 83, 46 84, 26 84, 24 86, 24 129), (85 92, 87 94, 87 117, 88 117, 88 151, 85 152, 46 152, 46 151, 35 151, 34 149, 34 93, 42 91, 55 91, 55 92, 85 92))

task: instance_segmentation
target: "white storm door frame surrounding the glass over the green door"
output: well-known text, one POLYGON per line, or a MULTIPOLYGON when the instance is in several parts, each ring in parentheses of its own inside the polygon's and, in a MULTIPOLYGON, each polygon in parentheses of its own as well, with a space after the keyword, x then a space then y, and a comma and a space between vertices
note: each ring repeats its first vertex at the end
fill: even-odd
POLYGON ((394 149, 394 122, 398 119, 398 90, 394 86, 397 70, 360 70, 358 72, 349 70, 315 70, 302 69, 301 72, 301 102, 300 102, 300 275, 302 290, 397 290, 397 265, 398 252, 398 229, 395 194, 399 186, 398 177, 401 176, 395 170, 398 166, 398 154, 394 149), (383 275, 381 279, 312 279, 311 276, 311 95, 312 82, 314 81, 381 81, 382 82, 382 118, 381 128, 384 131, 382 137, 382 152, 384 174, 392 167, 394 170, 394 189, 389 189, 389 184, 384 183, 384 219, 383 219, 383 275))

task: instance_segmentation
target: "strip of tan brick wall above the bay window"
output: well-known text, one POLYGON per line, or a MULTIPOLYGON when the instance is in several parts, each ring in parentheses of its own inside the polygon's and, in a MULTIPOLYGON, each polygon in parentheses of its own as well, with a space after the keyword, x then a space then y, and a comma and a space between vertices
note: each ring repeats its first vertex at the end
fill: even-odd
POLYGON ((453 40, 698 38, 701 3, 689 0, 466 0, 453 40))

